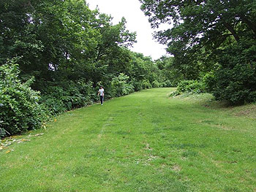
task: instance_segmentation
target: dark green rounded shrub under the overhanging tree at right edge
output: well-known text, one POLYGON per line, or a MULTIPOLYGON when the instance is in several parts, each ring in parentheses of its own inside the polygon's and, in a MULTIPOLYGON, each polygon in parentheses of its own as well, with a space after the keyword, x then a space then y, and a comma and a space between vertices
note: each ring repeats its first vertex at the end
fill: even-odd
POLYGON ((240 39, 218 55, 218 69, 212 75, 211 88, 217 100, 230 104, 256 101, 256 46, 253 39, 240 39), (254 43, 254 44, 252 44, 254 43))

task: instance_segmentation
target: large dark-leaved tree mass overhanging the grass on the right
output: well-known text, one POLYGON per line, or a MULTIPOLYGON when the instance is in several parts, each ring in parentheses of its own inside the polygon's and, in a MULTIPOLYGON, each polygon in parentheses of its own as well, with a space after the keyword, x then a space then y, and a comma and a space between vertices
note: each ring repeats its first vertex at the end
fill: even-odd
POLYGON ((230 104, 256 101, 256 1, 140 1, 152 28, 170 25, 155 37, 178 80, 200 81, 230 104))

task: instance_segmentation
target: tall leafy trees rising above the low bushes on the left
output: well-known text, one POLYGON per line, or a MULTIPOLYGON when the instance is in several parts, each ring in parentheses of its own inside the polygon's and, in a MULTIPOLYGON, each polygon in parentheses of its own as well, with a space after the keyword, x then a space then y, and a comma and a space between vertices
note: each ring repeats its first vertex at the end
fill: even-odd
POLYGON ((120 69, 124 62, 116 55, 124 60, 122 47, 135 42, 125 19, 113 26, 108 15, 91 11, 85 1, 15 0, 0 6, 1 64, 22 56, 21 74, 37 82, 66 77, 97 82, 105 70, 120 69))

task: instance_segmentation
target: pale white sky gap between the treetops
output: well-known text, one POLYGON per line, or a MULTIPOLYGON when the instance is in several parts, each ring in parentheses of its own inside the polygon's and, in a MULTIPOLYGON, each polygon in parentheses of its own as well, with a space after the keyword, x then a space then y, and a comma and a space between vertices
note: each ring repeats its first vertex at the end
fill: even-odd
POLYGON ((165 45, 160 45, 153 39, 154 30, 148 23, 148 18, 140 10, 138 0, 86 0, 90 9, 99 7, 99 12, 106 13, 113 17, 113 24, 121 21, 124 17, 127 20, 127 29, 130 32, 137 32, 137 43, 129 49, 145 56, 151 56, 154 60, 166 54, 165 45))

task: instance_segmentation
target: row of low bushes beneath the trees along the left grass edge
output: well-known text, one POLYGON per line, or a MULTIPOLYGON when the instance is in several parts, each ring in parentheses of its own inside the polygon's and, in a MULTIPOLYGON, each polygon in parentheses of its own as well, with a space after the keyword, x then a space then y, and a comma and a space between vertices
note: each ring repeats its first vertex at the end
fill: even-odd
MULTIPOLYGON (((19 134, 23 131, 40 128, 49 115, 84 107, 97 101, 97 88, 92 82, 48 82, 39 91, 30 88, 32 80, 21 82, 18 64, 9 62, 0 66, 0 137, 19 134)), ((126 74, 113 77, 107 90, 108 98, 124 96, 135 91, 135 81, 129 81, 126 74)), ((140 88, 151 88, 148 80, 137 82, 140 88)), ((157 84, 154 81, 155 85, 157 84)))

